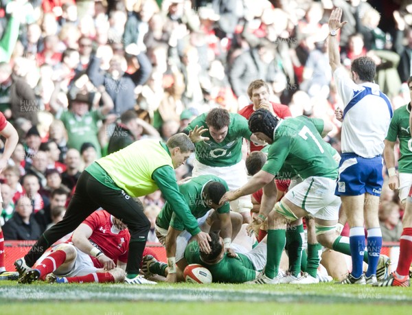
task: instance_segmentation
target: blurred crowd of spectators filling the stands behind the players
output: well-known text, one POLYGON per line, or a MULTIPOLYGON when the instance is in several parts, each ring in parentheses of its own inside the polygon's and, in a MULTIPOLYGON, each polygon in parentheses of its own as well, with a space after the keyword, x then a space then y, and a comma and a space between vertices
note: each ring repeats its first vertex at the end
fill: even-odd
MULTIPOLYGON (((61 220, 80 172, 120 145, 113 136, 166 140, 211 108, 236 113, 256 79, 293 116, 332 121, 339 150, 325 42, 335 6, 348 21, 343 65, 371 56, 393 108, 409 103, 412 0, 1 0, 0 110, 21 140, 1 178, 6 240, 61 220)), ((163 202, 144 198, 152 224, 163 202)), ((387 241, 402 232, 400 207, 384 189, 387 241)))

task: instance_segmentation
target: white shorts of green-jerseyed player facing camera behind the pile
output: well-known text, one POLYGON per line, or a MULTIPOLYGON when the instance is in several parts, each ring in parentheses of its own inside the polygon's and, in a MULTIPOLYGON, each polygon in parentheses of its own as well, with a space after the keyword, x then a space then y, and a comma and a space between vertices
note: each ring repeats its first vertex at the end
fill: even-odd
MULTIPOLYGON (((209 166, 202 164, 198 160, 193 161, 193 177, 200 175, 215 175, 227 183, 229 190, 236 190, 247 183, 247 170, 244 161, 241 160, 239 163, 231 166, 209 166)), ((230 207, 233 211, 242 213, 251 211, 253 205, 250 196, 242 196, 236 200, 230 202, 230 207)))

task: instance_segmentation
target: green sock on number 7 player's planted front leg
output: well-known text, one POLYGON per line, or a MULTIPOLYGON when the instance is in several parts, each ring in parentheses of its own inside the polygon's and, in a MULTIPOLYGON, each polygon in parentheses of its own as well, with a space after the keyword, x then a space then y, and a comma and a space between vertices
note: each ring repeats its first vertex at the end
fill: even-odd
POLYGON ((268 260, 264 274, 273 279, 279 272, 280 259, 286 243, 286 230, 268 230, 268 260))

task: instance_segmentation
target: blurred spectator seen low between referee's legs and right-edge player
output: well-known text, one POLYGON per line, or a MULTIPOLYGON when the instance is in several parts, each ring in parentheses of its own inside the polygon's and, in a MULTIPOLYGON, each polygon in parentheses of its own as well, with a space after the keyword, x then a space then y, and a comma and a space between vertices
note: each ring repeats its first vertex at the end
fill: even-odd
POLYGON ((399 206, 395 202, 382 202, 379 209, 379 225, 383 242, 399 242, 402 235, 402 222, 399 206))

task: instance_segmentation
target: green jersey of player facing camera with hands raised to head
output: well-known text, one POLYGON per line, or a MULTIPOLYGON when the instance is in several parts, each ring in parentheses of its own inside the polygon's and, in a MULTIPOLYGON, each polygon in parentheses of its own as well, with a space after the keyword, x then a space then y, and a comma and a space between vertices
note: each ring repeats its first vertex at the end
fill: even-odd
MULTIPOLYGON (((208 128, 206 116, 207 113, 204 113, 196 117, 185 128, 185 131, 194 130, 196 126, 208 128)), ((251 135, 247 119, 239 114, 230 113, 230 123, 225 139, 221 143, 216 143, 211 137, 209 130, 205 132, 203 137, 208 137, 209 140, 196 143, 196 159, 208 166, 222 167, 235 165, 242 159, 243 138, 250 140, 251 135)))

